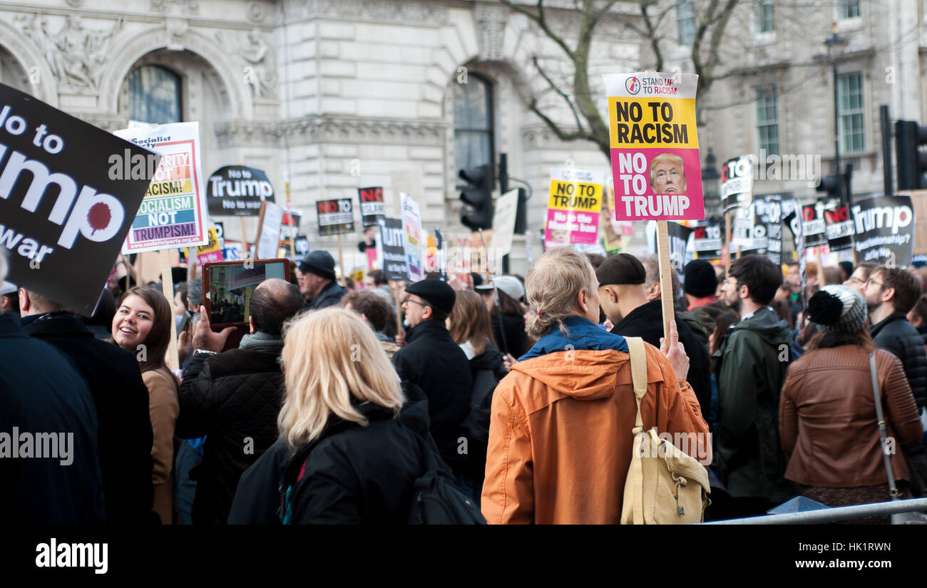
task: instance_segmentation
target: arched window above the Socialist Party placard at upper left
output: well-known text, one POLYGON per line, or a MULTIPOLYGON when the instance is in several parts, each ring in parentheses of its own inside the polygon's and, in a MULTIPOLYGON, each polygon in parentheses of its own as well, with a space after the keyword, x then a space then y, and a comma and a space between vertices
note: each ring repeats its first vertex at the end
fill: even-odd
POLYGON ((180 76, 160 66, 129 73, 129 118, 165 124, 180 122, 180 76))

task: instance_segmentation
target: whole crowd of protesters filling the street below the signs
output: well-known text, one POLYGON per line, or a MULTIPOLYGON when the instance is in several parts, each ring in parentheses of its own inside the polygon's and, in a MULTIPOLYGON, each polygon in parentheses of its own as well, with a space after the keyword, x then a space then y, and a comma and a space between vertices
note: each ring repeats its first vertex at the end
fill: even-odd
POLYGON ((355 284, 313 251, 221 331, 201 280, 176 273, 169 302, 128 262, 91 317, 0 293, 0 433, 67 432, 70 460, 7 458, 0 436, 4 522, 402 523, 438 463, 489 523, 614 523, 626 337, 645 342, 642 425, 698 440, 680 449, 708 467, 706 519, 888 500, 873 379, 892 485, 925 493, 923 268, 696 259, 670 272, 667 341, 656 256, 559 247, 527 278, 355 284))

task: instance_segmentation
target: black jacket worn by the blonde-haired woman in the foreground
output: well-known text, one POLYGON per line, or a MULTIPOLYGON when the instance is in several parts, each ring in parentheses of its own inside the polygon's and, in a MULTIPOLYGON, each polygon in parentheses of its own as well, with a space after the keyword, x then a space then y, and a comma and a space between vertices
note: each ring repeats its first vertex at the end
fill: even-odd
POLYGON ((409 382, 402 388, 406 404, 395 419, 382 407, 355 405, 368 426, 332 417, 314 446, 293 454, 282 440, 273 444, 242 475, 229 523, 280 524, 281 498, 292 486, 292 524, 404 524, 413 482, 425 469, 413 435, 433 442, 425 395, 409 382))

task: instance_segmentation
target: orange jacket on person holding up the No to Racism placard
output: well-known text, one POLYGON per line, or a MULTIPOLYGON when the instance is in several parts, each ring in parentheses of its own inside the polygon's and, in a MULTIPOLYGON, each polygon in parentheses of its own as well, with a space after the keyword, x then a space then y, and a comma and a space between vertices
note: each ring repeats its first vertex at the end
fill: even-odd
MULTIPOLYGON (((667 358, 645 346, 644 427, 701 433, 705 445, 688 453, 710 463, 692 387, 680 388, 667 358)), ((617 523, 636 415, 627 353, 567 351, 514 364, 492 398, 483 516, 490 524, 617 523)))

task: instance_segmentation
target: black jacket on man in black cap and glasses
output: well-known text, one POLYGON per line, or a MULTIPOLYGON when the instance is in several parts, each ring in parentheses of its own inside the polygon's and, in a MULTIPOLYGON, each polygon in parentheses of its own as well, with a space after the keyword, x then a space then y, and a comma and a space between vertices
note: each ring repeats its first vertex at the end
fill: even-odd
POLYGON ((470 413, 473 377, 460 345, 451 339, 444 321, 424 320, 406 332, 409 342, 393 356, 400 380, 412 382, 428 399, 431 434, 441 457, 455 472, 466 468, 457 453, 462 423, 470 413))

